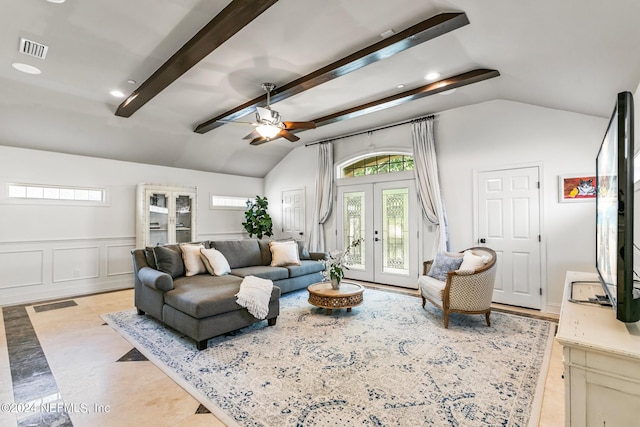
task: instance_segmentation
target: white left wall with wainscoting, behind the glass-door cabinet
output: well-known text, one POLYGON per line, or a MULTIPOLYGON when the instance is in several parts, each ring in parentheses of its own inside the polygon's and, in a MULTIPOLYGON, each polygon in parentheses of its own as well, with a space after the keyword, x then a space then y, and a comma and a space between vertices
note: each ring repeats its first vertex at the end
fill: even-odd
POLYGON ((211 194, 262 195, 264 180, 0 146, 0 305, 133 285, 138 183, 197 187, 198 240, 246 236, 211 194), (6 183, 107 187, 104 207, 7 203, 6 183))

